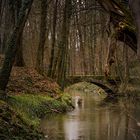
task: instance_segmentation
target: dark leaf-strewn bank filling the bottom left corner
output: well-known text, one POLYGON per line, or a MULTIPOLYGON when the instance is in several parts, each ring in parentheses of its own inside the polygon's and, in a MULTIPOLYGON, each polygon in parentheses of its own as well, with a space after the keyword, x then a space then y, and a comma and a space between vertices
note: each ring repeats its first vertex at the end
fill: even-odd
POLYGON ((7 103, 0 101, 0 139, 1 140, 37 140, 43 134, 24 122, 21 116, 7 103))

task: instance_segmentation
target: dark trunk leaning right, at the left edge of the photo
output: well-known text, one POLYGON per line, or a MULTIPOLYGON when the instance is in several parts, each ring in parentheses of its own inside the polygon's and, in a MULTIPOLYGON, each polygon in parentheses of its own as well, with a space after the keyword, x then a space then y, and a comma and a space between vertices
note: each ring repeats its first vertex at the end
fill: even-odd
POLYGON ((12 35, 9 38, 7 43, 7 50, 5 53, 5 59, 3 66, 0 71, 0 94, 1 97, 6 96, 4 92, 6 90, 6 86, 9 81, 10 73, 12 70, 12 66, 15 60, 16 52, 17 52, 17 41, 19 37, 22 35, 25 22, 28 18, 29 11, 31 9, 33 0, 24 0, 22 7, 20 9, 19 18, 16 23, 16 26, 13 30, 12 35))

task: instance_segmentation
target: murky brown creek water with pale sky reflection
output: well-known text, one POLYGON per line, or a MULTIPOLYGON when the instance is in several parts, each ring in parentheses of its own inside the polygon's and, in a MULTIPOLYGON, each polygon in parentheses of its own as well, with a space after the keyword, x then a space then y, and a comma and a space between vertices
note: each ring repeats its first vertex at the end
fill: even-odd
MULTIPOLYGON (((46 140, 140 140, 140 103, 106 103, 92 93, 70 90, 75 109, 41 122, 46 140), (78 98, 82 99, 78 103, 78 98)), ((97 95, 96 95, 97 96, 97 95)))

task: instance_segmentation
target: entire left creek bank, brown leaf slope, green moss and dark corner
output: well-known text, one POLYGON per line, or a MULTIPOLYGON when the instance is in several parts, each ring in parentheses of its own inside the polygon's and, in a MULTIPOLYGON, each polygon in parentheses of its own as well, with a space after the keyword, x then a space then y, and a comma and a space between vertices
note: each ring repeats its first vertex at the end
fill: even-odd
POLYGON ((73 108, 71 97, 34 69, 14 67, 7 93, 7 100, 0 100, 0 140, 41 140, 41 118, 73 108))

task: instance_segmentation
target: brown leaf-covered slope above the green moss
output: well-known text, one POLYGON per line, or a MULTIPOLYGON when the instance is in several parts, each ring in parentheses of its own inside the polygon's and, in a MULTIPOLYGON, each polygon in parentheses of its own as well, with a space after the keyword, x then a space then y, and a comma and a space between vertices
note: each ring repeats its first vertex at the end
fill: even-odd
POLYGON ((52 97, 58 96, 61 89, 48 77, 37 73, 35 69, 14 67, 7 88, 8 94, 43 93, 52 97))

